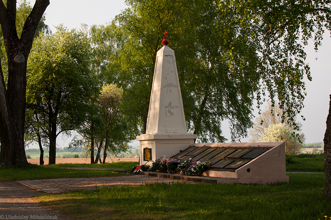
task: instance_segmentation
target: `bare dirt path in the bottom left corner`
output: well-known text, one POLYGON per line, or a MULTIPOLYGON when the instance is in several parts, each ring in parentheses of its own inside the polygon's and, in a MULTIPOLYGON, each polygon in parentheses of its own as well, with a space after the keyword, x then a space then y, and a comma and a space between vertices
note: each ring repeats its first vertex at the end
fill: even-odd
POLYGON ((0 182, 0 219, 71 219, 32 199, 39 194, 17 182, 0 182))

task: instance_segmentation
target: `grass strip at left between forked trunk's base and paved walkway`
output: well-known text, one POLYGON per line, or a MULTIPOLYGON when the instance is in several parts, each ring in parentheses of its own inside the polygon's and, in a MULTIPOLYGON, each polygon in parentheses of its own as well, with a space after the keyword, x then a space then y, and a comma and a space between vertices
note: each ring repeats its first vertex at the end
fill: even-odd
MULTIPOLYGON (((0 166, 0 181, 27 180, 27 179, 53 179, 69 177, 118 176, 123 173, 110 172, 112 169, 130 170, 134 162, 116 162, 109 164, 57 164, 25 166, 0 166), (107 170, 70 169, 63 167, 106 167, 107 170)), ((137 163, 134 163, 137 165, 137 163)))

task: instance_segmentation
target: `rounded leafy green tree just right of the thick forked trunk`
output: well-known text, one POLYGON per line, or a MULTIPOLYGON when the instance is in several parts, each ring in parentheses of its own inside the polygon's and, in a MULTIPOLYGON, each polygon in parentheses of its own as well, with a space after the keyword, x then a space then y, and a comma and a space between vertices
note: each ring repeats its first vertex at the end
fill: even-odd
POLYGON ((49 141, 54 148, 50 156, 56 137, 85 120, 91 100, 99 93, 90 73, 90 56, 86 36, 63 26, 34 41, 27 66, 25 139, 36 141, 40 133, 44 143, 49 141))

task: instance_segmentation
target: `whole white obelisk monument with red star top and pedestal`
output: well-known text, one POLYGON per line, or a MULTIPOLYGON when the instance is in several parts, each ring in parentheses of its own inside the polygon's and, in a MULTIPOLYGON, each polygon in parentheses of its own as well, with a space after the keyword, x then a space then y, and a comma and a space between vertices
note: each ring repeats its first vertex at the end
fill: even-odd
POLYGON ((164 46, 156 55, 146 134, 137 136, 139 164, 162 156, 170 158, 197 138, 187 133, 175 53, 167 46, 166 33, 164 46))

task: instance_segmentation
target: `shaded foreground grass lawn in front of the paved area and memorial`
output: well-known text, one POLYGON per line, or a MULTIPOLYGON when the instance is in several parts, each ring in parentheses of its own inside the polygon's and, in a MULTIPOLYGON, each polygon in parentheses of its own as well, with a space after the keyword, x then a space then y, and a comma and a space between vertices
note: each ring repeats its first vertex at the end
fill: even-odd
POLYGON ((290 173, 290 183, 157 183, 35 197, 75 219, 325 219, 324 174, 290 173))

